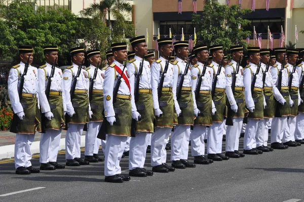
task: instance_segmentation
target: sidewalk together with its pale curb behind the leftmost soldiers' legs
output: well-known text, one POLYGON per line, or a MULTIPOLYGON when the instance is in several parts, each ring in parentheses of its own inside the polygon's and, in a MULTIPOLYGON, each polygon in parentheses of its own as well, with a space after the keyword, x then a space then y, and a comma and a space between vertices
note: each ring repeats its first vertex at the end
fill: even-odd
MULTIPOLYGON (((66 134, 66 130, 62 130, 59 150, 65 149, 65 134, 66 134)), ((85 134, 86 131, 83 132, 81 137, 81 147, 85 146, 85 134)), ((41 133, 36 132, 34 142, 31 145, 32 154, 40 152, 39 151, 40 138, 41 138, 41 133)), ((14 149, 15 149, 15 133, 10 132, 9 130, 0 131, 0 160, 6 158, 13 158, 14 149)))

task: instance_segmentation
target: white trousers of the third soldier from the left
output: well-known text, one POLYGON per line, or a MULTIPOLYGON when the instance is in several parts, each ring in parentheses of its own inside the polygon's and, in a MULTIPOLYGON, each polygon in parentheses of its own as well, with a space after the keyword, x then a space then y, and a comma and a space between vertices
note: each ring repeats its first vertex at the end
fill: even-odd
POLYGON ((65 137, 65 159, 80 158, 81 135, 84 124, 68 123, 65 137))

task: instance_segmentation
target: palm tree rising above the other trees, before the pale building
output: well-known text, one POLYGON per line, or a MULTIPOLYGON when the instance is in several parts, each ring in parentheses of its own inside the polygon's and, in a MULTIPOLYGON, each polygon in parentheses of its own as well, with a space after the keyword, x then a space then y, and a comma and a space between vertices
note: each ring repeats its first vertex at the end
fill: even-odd
POLYGON ((93 15, 96 13, 102 13, 102 21, 112 29, 112 22, 110 19, 111 13, 114 17, 122 16, 122 12, 132 12, 132 6, 127 3, 126 0, 103 0, 100 4, 91 4, 89 8, 85 9, 85 15, 93 15), (106 14, 108 20, 106 20, 106 14))

